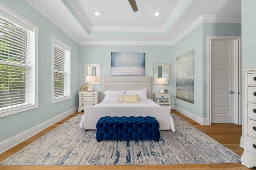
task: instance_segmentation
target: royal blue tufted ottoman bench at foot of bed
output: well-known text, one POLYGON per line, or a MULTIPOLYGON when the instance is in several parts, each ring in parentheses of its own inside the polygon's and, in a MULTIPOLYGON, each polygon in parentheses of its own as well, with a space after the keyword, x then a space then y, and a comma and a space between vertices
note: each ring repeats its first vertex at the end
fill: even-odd
POLYGON ((96 124, 96 139, 159 141, 159 122, 151 116, 101 117, 96 124))

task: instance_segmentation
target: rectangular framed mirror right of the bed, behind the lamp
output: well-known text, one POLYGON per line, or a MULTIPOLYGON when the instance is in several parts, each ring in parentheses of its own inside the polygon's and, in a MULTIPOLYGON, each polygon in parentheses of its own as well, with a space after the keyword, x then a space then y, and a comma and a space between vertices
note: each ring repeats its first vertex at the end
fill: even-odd
POLYGON ((171 84, 171 64, 154 64, 154 84, 156 78, 165 77, 168 84, 171 84))

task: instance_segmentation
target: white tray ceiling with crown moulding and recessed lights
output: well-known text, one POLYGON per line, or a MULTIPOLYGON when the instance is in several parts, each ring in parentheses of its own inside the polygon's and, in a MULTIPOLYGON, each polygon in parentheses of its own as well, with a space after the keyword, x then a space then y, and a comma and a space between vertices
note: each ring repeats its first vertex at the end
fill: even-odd
POLYGON ((26 1, 84 45, 174 45, 202 22, 241 22, 241 0, 26 1))

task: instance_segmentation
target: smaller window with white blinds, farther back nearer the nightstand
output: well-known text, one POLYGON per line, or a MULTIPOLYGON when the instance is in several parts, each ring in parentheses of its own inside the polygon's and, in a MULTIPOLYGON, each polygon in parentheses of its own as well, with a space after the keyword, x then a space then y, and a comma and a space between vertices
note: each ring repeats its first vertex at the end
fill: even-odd
POLYGON ((52 103, 70 99, 71 48, 52 37, 52 103))

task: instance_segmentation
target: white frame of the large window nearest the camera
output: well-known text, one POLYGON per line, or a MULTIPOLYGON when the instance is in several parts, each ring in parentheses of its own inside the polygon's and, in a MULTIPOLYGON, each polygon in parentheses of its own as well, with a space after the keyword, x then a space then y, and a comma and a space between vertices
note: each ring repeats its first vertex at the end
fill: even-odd
MULTIPOLYGON (((20 16, 2 3, 0 3, 0 16, 5 18, 6 20, 12 21, 13 23, 21 27, 24 27, 25 29, 29 29, 34 33, 34 51, 32 54, 32 56, 34 57, 32 69, 32 74, 34 75, 34 78, 31 81, 34 100, 27 104, 14 105, 0 109, 0 117, 4 117, 7 115, 20 113, 22 111, 27 111, 38 107, 38 26, 30 22, 26 18, 20 16)), ((28 97, 27 95, 31 94, 26 93, 26 98, 28 97)))

